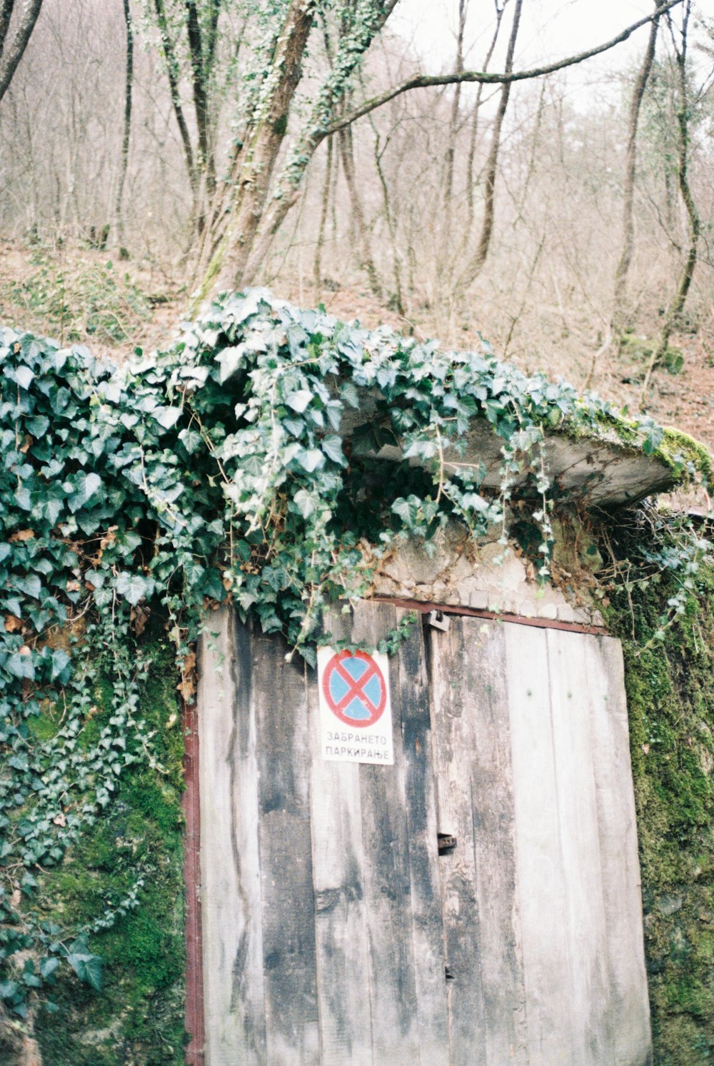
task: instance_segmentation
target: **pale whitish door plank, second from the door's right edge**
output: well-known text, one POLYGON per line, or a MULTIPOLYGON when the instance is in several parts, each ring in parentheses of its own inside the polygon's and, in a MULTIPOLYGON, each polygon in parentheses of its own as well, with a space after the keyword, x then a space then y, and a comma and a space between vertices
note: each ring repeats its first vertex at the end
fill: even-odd
POLYGON ((590 702, 598 693, 585 683, 590 643, 597 643, 597 637, 547 631, 573 1062, 602 1066, 614 1061, 614 1047, 590 732, 590 702))

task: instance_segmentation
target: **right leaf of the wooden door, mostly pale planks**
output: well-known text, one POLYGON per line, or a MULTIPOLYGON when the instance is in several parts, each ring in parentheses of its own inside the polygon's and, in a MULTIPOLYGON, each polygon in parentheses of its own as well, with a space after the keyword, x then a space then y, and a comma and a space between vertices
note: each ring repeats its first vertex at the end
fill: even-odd
POLYGON ((455 1066, 650 1057, 622 657, 606 636, 427 631, 455 1066))

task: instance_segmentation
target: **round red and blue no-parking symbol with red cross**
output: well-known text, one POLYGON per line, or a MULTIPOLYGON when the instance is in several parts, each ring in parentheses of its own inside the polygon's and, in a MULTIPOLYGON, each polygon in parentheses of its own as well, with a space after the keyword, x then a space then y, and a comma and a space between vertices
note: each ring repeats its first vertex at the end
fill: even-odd
POLYGON ((387 682, 366 651, 338 651, 325 665, 322 694, 340 722, 367 729, 382 717, 387 704, 387 682))

